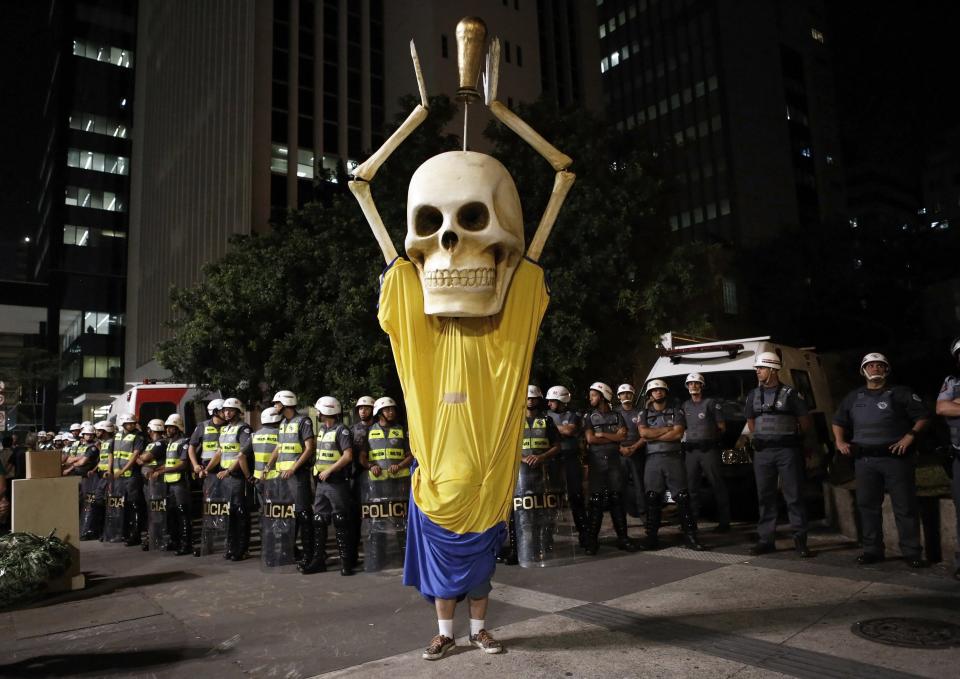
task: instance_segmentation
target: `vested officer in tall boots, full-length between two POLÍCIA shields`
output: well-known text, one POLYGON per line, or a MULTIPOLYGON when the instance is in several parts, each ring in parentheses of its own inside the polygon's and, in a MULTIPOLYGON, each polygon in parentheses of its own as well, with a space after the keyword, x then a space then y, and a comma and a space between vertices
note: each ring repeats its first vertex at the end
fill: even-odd
POLYGON ((317 456, 313 473, 317 479, 316 496, 313 501, 314 542, 313 559, 303 573, 318 573, 326 570, 327 526, 333 523, 340 555, 340 575, 353 575, 356 554, 354 544, 352 497, 347 484, 346 469, 353 462, 353 435, 340 422, 343 412, 340 401, 332 396, 321 396, 316 403, 320 412, 320 430, 317 432, 317 456))

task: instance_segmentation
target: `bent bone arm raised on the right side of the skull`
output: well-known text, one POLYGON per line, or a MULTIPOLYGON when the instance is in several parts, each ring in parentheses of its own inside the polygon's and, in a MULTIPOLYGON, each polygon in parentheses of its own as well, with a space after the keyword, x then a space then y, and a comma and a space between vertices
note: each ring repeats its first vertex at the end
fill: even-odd
POLYGON ((570 156, 561 153, 550 142, 541 137, 536 130, 527 125, 520 116, 508 109, 497 100, 497 84, 500 77, 500 40, 495 38, 490 44, 490 51, 487 54, 487 70, 484 75, 484 90, 487 106, 490 112, 504 125, 513 130, 521 139, 530 144, 534 150, 543 156, 557 174, 553 182, 553 190, 550 192, 550 200, 540 218, 540 224, 537 226, 537 232, 530 241, 530 247, 527 248, 527 257, 533 261, 540 259, 543 247, 550 237, 550 231, 557 221, 560 214, 560 208, 563 201, 566 200, 570 187, 577 176, 568 171, 567 168, 573 163, 570 156))

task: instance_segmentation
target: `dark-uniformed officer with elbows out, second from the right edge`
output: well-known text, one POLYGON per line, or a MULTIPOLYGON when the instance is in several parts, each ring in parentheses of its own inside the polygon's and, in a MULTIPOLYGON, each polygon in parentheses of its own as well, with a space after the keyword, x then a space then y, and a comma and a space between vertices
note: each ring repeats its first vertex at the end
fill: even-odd
POLYGON ((861 564, 883 560, 883 494, 890 493, 900 552, 911 568, 927 565, 920 546, 915 461, 907 453, 930 423, 920 397, 890 385, 890 362, 879 353, 860 361, 866 384, 847 394, 833 417, 833 435, 842 455, 854 456, 857 508, 863 533, 861 564))

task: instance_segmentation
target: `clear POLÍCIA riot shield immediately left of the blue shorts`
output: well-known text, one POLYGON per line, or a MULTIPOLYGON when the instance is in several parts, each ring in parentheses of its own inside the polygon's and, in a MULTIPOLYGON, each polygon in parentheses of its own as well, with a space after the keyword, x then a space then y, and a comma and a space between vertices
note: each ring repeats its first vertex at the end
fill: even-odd
POLYGON ((402 568, 407 544, 407 508, 410 478, 360 481, 360 516, 363 535, 363 570, 376 573, 402 568))

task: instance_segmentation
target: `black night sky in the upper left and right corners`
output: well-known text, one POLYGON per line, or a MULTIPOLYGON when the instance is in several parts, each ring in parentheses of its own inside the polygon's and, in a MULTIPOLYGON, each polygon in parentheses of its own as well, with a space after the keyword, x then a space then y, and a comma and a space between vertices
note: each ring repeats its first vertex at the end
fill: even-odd
MULTIPOLYGON (((918 183, 926 149, 960 123, 960 5, 825 4, 845 162, 883 166, 918 183)), ((32 233, 37 220, 37 174, 46 142, 38 122, 51 63, 47 9, 41 0, 0 0, 7 27, 0 41, 0 246, 32 233)))

